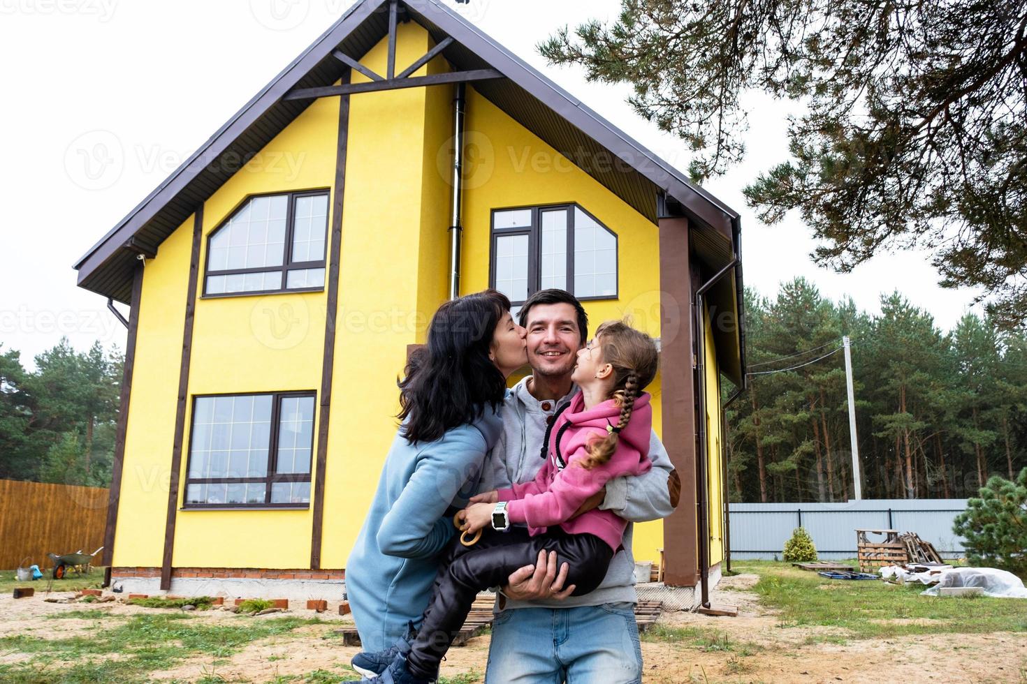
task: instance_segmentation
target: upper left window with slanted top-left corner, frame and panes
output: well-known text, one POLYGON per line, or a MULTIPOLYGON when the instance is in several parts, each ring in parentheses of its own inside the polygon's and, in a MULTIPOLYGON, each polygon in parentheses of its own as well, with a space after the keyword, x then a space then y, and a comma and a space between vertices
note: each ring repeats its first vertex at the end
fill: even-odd
POLYGON ((251 197, 207 241, 204 296, 325 288, 328 192, 251 197))

